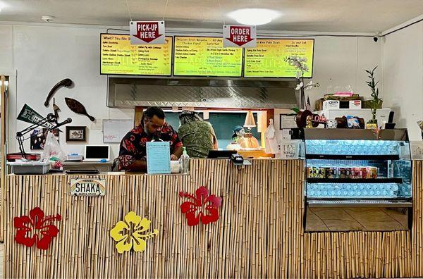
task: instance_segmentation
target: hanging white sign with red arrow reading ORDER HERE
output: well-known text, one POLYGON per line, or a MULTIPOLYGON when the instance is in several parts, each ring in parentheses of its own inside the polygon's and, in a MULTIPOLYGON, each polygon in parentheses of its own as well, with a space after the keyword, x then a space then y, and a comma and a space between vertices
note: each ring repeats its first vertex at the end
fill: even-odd
POLYGON ((256 27, 250 25, 223 25, 223 46, 257 46, 256 27))

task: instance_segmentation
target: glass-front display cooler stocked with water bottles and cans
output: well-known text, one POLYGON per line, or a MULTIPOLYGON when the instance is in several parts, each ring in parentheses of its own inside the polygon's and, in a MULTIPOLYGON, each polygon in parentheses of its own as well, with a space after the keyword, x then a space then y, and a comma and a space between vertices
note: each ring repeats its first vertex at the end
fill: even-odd
POLYGON ((305 129, 305 230, 408 230, 406 129, 305 129))

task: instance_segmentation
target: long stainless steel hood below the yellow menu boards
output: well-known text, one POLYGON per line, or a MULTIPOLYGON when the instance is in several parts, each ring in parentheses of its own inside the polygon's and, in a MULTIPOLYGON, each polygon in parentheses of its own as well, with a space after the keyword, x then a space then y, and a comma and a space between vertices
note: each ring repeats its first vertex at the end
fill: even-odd
POLYGON ((295 80, 109 77, 107 106, 290 109, 295 80))

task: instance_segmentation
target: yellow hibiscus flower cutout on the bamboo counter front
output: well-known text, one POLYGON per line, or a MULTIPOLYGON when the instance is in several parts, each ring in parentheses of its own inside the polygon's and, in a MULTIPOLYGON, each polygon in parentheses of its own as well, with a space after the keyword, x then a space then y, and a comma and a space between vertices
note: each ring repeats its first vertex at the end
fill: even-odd
POLYGON ((125 215, 125 221, 118 221, 110 230, 110 236, 118 242, 116 243, 118 253, 122 254, 130 249, 134 249, 135 252, 144 251, 145 240, 159 234, 157 229, 154 229, 153 233, 147 233, 150 223, 151 221, 137 216, 134 211, 125 215))

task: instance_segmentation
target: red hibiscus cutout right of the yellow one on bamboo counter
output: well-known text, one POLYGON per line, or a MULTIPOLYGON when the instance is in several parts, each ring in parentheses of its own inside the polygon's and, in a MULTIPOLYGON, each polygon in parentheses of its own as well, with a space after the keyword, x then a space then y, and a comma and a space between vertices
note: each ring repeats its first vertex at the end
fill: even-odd
POLYGON ((202 186, 193 194, 179 192, 180 197, 191 199, 190 202, 183 202, 180 210, 185 213, 188 225, 198 225, 200 221, 207 225, 219 220, 219 207, 222 204, 222 198, 216 197, 214 194, 209 195, 209 190, 202 186))

